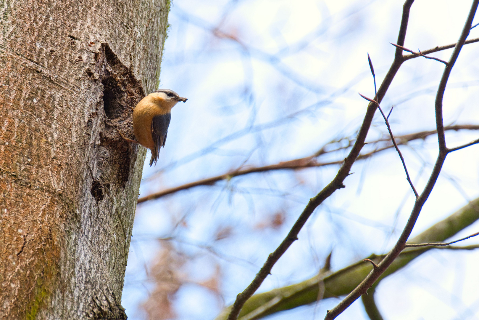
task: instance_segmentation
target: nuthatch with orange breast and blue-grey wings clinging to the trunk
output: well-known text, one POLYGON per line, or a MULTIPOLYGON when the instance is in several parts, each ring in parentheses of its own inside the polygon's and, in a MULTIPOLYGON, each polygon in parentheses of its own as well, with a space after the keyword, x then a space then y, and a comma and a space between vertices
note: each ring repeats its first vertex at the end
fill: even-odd
POLYGON ((160 148, 165 146, 168 126, 171 120, 171 108, 178 102, 186 102, 170 89, 160 89, 150 93, 138 102, 133 111, 133 132, 137 141, 125 139, 128 142, 139 143, 150 149, 150 166, 158 161, 160 148))

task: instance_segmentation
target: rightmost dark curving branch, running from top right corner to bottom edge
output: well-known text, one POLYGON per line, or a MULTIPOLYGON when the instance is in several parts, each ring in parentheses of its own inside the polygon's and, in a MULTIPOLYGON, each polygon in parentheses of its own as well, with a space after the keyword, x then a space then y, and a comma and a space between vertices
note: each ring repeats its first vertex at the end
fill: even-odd
MULTIPOLYGON (((410 8, 412 2, 413 0, 406 1, 406 3, 404 4, 404 8, 406 9, 407 6, 409 6, 410 8)), ((437 130, 438 142, 439 142, 439 153, 433 168, 433 172, 431 173, 431 176, 429 178, 429 181, 427 182, 424 190, 422 191, 421 196, 416 199, 416 202, 412 209, 409 220, 406 226, 404 227, 398 241, 396 242, 396 245, 393 247, 393 249, 391 249, 391 251, 389 251, 388 255, 384 258, 384 260, 382 260, 378 264, 377 268, 374 268, 367 275, 367 277, 361 282, 361 284, 359 284, 336 307, 332 308, 331 310, 328 310, 325 320, 331 320, 336 318, 339 314, 342 313, 342 311, 348 308, 357 298, 364 295, 367 292, 367 289, 370 288, 376 282, 376 280, 381 276, 381 274, 383 274, 386 271, 386 269, 388 269, 388 266, 394 262, 394 260, 399 256, 401 251, 406 246, 406 241, 408 240, 408 237, 411 235, 412 228, 416 224, 416 220, 419 217, 419 213, 421 213, 422 206, 424 205, 427 198, 431 194, 431 191, 433 190, 433 187, 435 185, 437 178, 439 177, 439 173, 441 172, 441 168, 444 164, 445 157, 448 152, 448 149, 446 147, 446 142, 445 142, 444 123, 443 123, 444 91, 445 91, 445 87, 449 79, 451 70, 456 62, 457 57, 459 56, 459 52, 461 51, 462 46, 464 45, 466 41, 466 37, 469 34, 472 20, 474 18, 474 15, 478 7, 478 3, 479 3, 479 0, 474 0, 472 3, 471 9, 468 14, 468 19, 464 25, 461 35, 459 36, 459 40, 457 41, 456 47, 454 48, 451 58, 449 59, 449 61, 447 62, 447 65, 445 66, 445 70, 437 90, 437 95, 435 100, 435 117, 436 117, 436 130, 437 130)), ((408 8, 408 12, 409 12, 409 8, 408 8)), ((406 21, 406 24, 407 24, 407 21, 406 21)), ((398 44, 402 46, 403 42, 398 41, 398 44)), ((400 49, 398 48, 398 50, 400 49)))

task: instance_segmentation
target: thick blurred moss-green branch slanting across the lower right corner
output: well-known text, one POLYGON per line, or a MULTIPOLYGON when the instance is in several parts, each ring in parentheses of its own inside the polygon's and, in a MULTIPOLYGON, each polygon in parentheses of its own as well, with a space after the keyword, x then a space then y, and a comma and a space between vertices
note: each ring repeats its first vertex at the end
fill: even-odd
MULTIPOLYGON (((479 219, 479 198, 475 199, 469 203, 464 208, 461 208, 456 213, 451 214, 446 219, 438 222, 429 229, 425 230, 418 236, 411 239, 410 243, 422 243, 429 241, 444 241, 456 233, 471 225, 479 219)), ((447 247, 441 247, 447 248, 447 247)), ((477 249, 478 245, 459 247, 454 249, 477 249)), ((393 264, 388 268, 386 273, 384 273, 380 280, 384 279, 390 274, 395 273, 400 268, 403 268, 408 263, 413 261, 415 258, 421 256, 423 253, 428 250, 436 249, 433 247, 426 248, 414 248, 404 250, 393 262, 393 264)), ((334 254, 334 253, 333 253, 334 254)), ((371 259, 379 263, 385 255, 376 255, 371 254, 365 259, 371 259)), ((364 260, 364 259, 363 259, 364 260)), ((323 299, 326 298, 336 298, 351 292, 356 285, 358 285, 365 276, 371 271, 372 266, 369 262, 359 260, 346 268, 339 270, 334 273, 326 274, 320 279, 318 276, 315 276, 311 279, 303 281, 298 284, 289 285, 282 288, 277 288, 272 291, 260 293, 252 296, 245 304, 244 308, 241 310, 239 319, 241 320, 254 320, 261 319, 265 316, 271 315, 275 312, 297 308, 302 305, 307 305, 317 302, 316 296, 318 294, 318 283, 323 281, 325 285, 325 292, 323 299), (267 304, 269 301, 280 297, 278 301, 272 306, 272 308, 263 309, 262 307, 267 304), (257 308, 262 308, 262 313, 255 313, 257 308), (249 314, 255 314, 255 317, 248 317, 249 314)), ((377 284, 375 285, 377 286, 377 284)), ((368 295, 370 292, 368 291, 368 295)), ((371 295, 372 296, 372 295, 371 295)), ((370 301, 368 301, 370 303, 370 301)), ((225 310, 215 319, 222 320, 227 319, 229 308, 225 310)), ((372 318, 371 318, 372 319, 372 318)), ((372 319, 374 320, 374 319, 372 319)))

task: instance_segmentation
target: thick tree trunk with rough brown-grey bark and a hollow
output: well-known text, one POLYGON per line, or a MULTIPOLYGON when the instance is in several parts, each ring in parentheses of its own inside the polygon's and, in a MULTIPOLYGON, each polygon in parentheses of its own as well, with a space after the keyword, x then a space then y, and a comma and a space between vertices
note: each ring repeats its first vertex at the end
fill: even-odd
POLYGON ((0 0, 0 319, 126 319, 168 0, 0 0))

